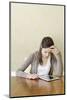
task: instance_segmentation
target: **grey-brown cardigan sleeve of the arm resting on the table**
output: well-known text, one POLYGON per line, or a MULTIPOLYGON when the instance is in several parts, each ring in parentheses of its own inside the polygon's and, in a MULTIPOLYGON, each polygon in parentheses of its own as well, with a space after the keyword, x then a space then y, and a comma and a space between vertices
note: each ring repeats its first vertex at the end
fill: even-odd
POLYGON ((33 57, 34 57, 34 53, 31 54, 31 55, 26 59, 26 61, 22 64, 22 67, 19 68, 19 69, 16 71, 16 76, 26 78, 27 73, 25 73, 24 71, 25 71, 26 68, 32 63, 33 57))

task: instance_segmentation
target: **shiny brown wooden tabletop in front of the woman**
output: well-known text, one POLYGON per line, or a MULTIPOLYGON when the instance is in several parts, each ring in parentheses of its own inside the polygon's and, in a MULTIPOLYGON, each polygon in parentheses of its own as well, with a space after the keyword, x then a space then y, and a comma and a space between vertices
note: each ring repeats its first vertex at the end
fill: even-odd
POLYGON ((64 78, 46 82, 11 77, 11 97, 64 94, 64 78))

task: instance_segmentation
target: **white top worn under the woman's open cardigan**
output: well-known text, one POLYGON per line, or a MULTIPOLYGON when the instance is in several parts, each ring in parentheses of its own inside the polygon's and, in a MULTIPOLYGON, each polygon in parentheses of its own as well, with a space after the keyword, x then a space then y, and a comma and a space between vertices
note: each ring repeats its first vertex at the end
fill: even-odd
POLYGON ((50 63, 50 56, 48 58, 47 64, 46 65, 38 65, 38 75, 48 75, 50 71, 51 63, 50 63))

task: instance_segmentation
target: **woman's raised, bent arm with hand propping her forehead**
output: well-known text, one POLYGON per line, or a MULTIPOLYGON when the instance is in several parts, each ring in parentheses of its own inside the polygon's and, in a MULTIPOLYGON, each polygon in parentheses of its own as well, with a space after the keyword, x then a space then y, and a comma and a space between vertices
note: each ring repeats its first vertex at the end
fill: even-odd
POLYGON ((63 63, 62 63, 62 56, 60 51, 55 47, 55 46, 51 46, 50 47, 51 52, 53 53, 53 55, 56 58, 56 62, 54 62, 54 74, 56 76, 62 76, 63 74, 63 63))

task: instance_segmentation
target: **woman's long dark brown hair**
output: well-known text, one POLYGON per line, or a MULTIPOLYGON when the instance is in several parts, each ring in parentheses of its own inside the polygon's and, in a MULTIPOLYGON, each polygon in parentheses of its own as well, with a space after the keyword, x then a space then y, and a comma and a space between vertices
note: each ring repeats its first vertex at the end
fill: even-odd
POLYGON ((41 41, 40 49, 39 49, 39 63, 42 64, 42 48, 49 48, 50 46, 54 45, 53 39, 51 37, 44 37, 41 41))

